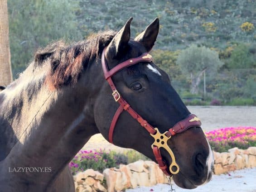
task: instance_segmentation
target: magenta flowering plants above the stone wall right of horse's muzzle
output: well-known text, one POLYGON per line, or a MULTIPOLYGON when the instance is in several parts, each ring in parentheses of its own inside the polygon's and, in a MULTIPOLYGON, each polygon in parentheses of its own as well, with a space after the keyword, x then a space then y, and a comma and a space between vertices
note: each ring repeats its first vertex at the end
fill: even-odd
POLYGON ((247 149, 256 146, 256 127, 227 127, 205 133, 213 150, 227 152, 238 147, 247 149))

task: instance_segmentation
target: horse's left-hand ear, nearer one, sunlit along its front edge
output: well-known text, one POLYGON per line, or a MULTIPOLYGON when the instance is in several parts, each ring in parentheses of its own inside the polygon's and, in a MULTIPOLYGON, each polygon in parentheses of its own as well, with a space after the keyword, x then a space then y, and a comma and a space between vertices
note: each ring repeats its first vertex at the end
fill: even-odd
POLYGON ((111 59, 119 58, 126 50, 128 42, 130 40, 130 23, 132 19, 133 18, 131 17, 126 22, 123 28, 115 35, 115 37, 108 45, 106 52, 108 57, 110 57, 111 59))

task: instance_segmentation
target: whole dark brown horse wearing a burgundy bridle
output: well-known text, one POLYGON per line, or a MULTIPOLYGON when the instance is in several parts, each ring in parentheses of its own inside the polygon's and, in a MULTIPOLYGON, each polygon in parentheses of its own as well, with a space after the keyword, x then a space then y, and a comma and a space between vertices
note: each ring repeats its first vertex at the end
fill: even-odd
POLYGON ((131 20, 118 32, 39 49, 0 91, 1 192, 75 192, 68 163, 98 133, 159 163, 179 187, 211 179, 201 123, 149 54, 159 19, 134 39, 131 20))

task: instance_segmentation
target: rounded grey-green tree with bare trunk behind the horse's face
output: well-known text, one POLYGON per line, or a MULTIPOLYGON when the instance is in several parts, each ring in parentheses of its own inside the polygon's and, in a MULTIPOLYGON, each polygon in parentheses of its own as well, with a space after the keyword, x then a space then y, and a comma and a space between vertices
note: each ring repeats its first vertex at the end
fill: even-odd
POLYGON ((223 65, 216 51, 206 47, 191 45, 184 49, 177 59, 182 71, 190 76, 191 93, 198 94, 199 83, 204 72, 210 72, 211 75, 217 72, 217 69, 223 65))

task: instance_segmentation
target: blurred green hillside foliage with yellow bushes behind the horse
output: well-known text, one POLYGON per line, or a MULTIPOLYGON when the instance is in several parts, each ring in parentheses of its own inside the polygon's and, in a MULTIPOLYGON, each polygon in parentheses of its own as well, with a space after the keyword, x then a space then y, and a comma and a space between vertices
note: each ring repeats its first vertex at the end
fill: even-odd
POLYGON ((14 78, 37 48, 54 40, 72 42, 100 30, 118 30, 131 16, 135 36, 159 17, 160 33, 152 54, 178 93, 190 98, 184 100, 187 104, 256 105, 254 0, 8 0, 8 9, 14 78), (206 59, 204 97, 203 78, 192 94, 192 71, 177 60, 191 61, 187 66, 197 68, 196 57, 182 53, 205 50, 214 59, 206 59))

